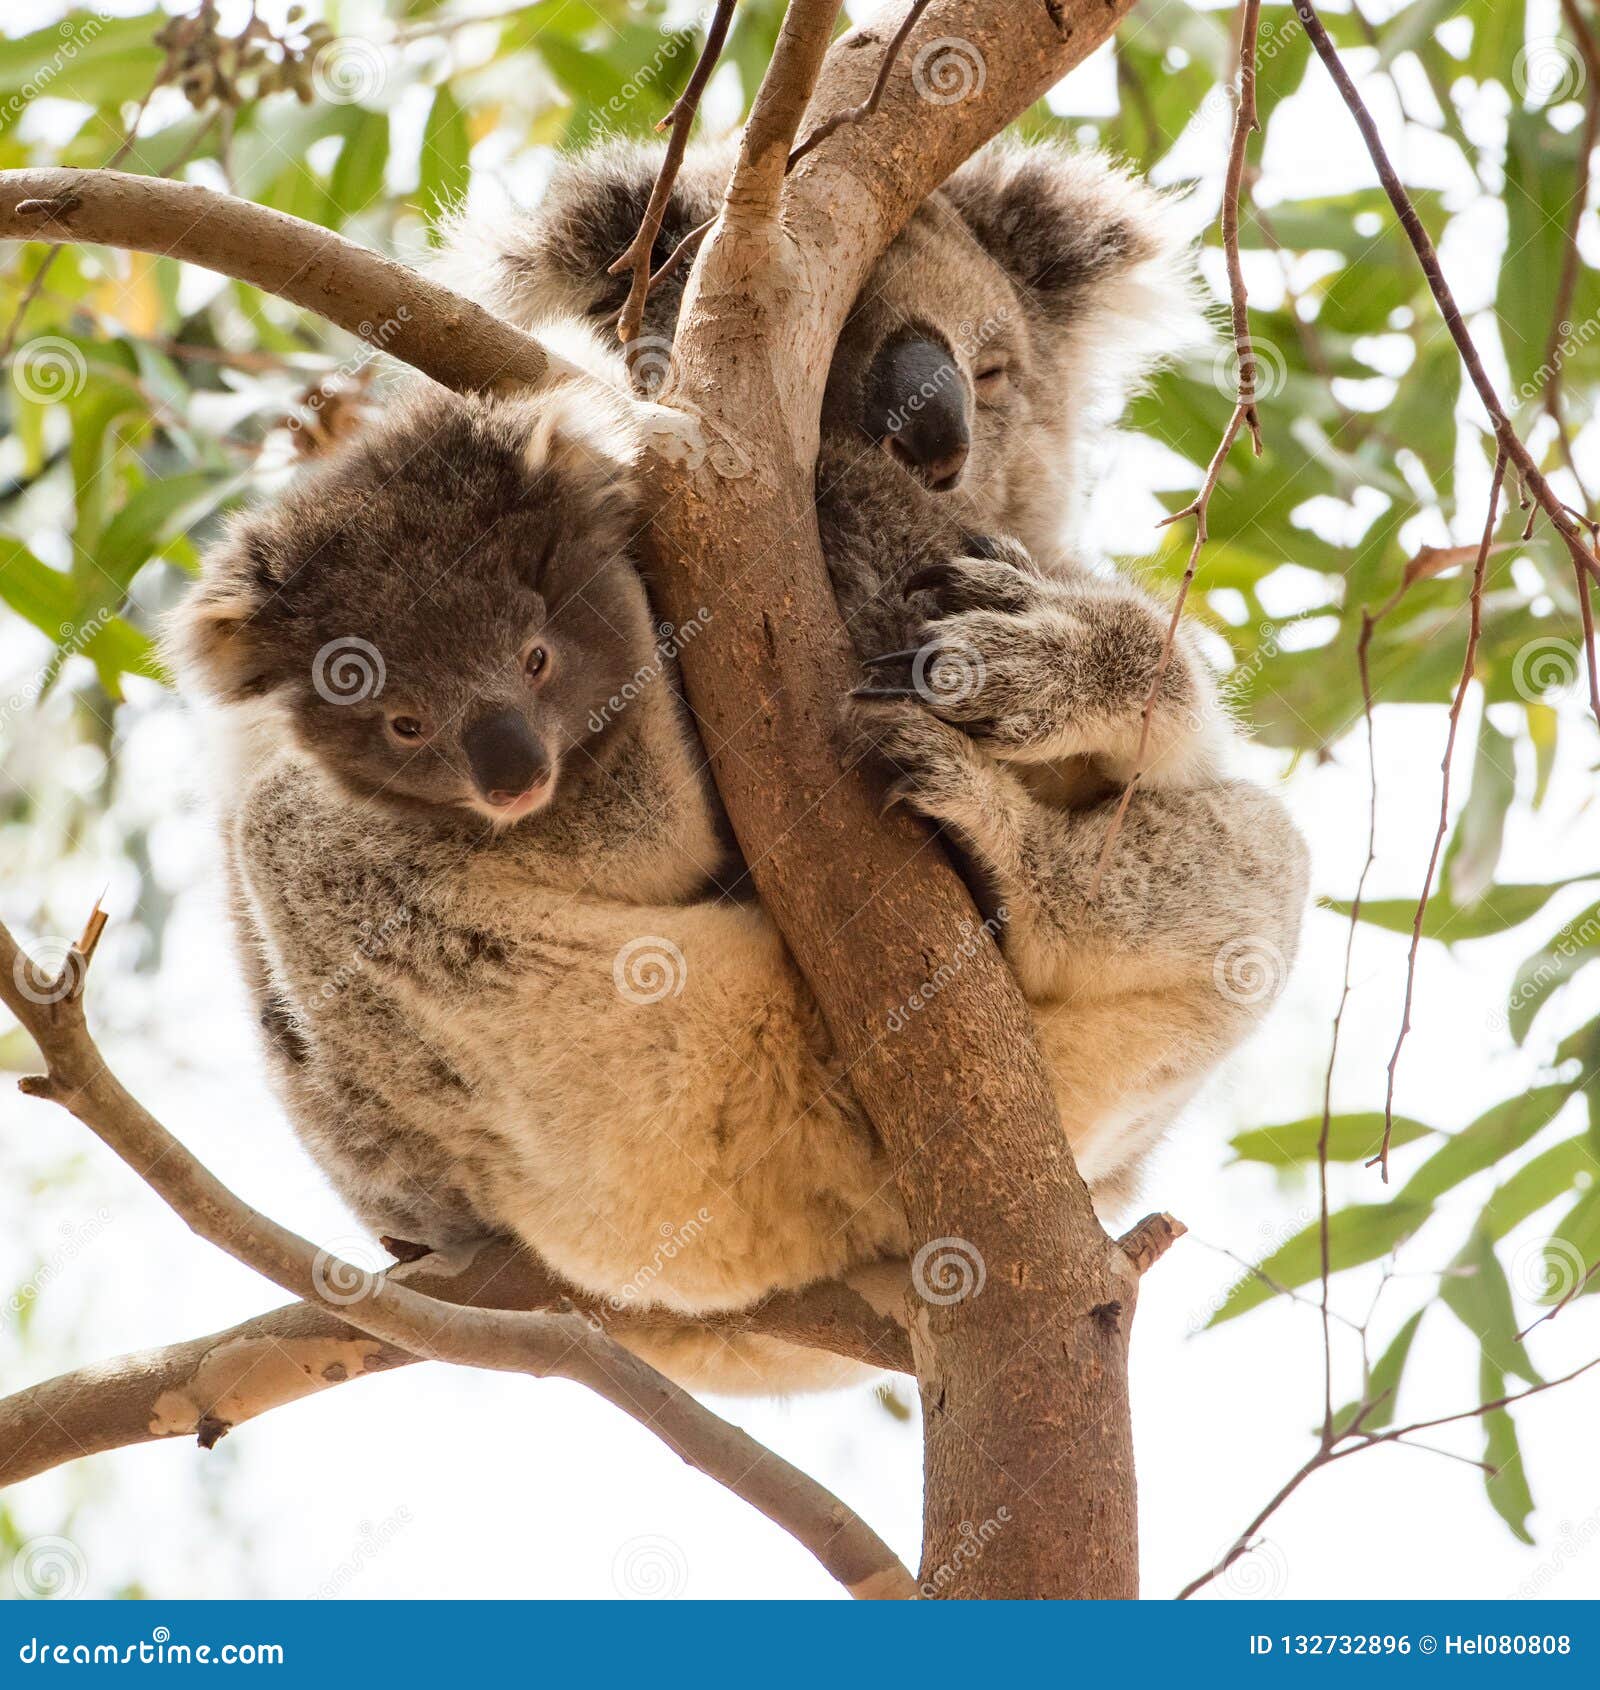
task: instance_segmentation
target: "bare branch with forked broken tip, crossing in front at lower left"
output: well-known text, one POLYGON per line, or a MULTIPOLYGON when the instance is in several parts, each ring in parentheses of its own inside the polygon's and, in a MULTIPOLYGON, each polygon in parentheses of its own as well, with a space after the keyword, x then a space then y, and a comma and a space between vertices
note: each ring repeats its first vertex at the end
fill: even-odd
MULTIPOLYGON (((836 1496, 703 1408, 583 1315, 439 1301, 399 1276, 377 1279, 318 1251, 226 1190, 123 1090, 90 1036, 83 987, 103 926, 105 916, 96 909, 56 975, 41 973, 0 926, 0 999, 39 1046, 49 1070, 42 1078, 24 1080, 22 1090, 71 1110, 191 1230, 284 1289, 331 1310, 368 1340, 382 1338, 431 1360, 588 1386, 691 1467, 789 1531, 852 1595, 916 1594, 889 1546, 836 1496), (348 1295, 353 1286, 355 1298, 348 1295)), ((353 1342, 360 1347, 363 1340, 353 1342)), ((326 1366, 348 1366, 348 1354, 346 1342, 326 1366)), ((157 1404, 152 1411, 159 1413, 157 1404)))

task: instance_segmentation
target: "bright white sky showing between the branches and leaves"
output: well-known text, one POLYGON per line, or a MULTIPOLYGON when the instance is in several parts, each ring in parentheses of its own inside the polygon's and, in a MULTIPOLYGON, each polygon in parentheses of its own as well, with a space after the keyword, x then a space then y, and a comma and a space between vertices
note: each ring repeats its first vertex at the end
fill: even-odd
MULTIPOLYGON (((125 10, 122 3, 112 7, 125 10)), ((852 7, 858 15, 872 7, 852 7)), ((1370 5, 1374 15, 1387 7, 1370 5)), ((1554 0, 1531 12, 1554 15, 1554 0)), ((7 30, 59 15, 56 0, 12 0, 7 30)), ((1360 57, 1355 59, 1360 64, 1360 57)), ((1063 110, 1105 110, 1103 56, 1063 86, 1063 110)), ((1423 137, 1401 135, 1382 84, 1369 90, 1401 155, 1423 137)), ((1348 122, 1331 95, 1308 95, 1281 127, 1299 137, 1274 145, 1265 198, 1331 193, 1370 181, 1348 122)), ((1483 113, 1495 122, 1495 113, 1483 113)), ((1205 174, 1201 201, 1215 204, 1225 125, 1195 139, 1184 169, 1205 174), (1210 194, 1210 198, 1206 198, 1210 194)), ((1274 140, 1277 139, 1274 132, 1274 140)), ((1418 159, 1423 162, 1423 157, 1418 159)), ((1441 186, 1458 204, 1472 194, 1458 174, 1441 186)), ((1468 299, 1482 301, 1499 233, 1494 220, 1463 218, 1446 262, 1468 299), (1483 233, 1483 228, 1488 233, 1483 233), (1468 237, 1470 238, 1463 238, 1468 237)), ((1264 279, 1262 279, 1264 281, 1264 279)), ((1264 292, 1262 297, 1267 297, 1264 292)), ((1590 443, 1585 443, 1588 446, 1590 443)), ((1600 453, 1592 455, 1600 465, 1600 453)), ((1100 537, 1118 549, 1147 544, 1149 487, 1164 465, 1137 446, 1115 466, 1118 512, 1100 537)), ((1110 504, 1110 502, 1103 502, 1110 504)), ((1436 537, 1436 536, 1434 536, 1436 537)), ((35 662, 8 625, 0 644, 0 695, 35 662)), ((1472 723, 1463 723, 1470 747, 1472 723)), ((1576 700, 1566 711, 1561 762, 1544 813, 1519 816, 1502 875, 1543 880, 1593 864, 1583 828, 1595 737, 1576 700)), ((1382 789, 1377 896, 1416 891, 1438 806, 1443 722, 1436 711, 1384 710, 1379 717, 1382 789)), ((25 732, 7 747, 17 777, 34 789, 73 781, 44 769, 25 732)), ((270 1102, 243 997, 223 938, 215 859, 193 808, 198 766, 193 723, 169 701, 139 711, 128 742, 122 804, 150 825, 150 855, 174 897, 159 979, 127 975, 132 958, 117 928, 96 963, 95 1000, 106 1048, 125 1082, 235 1190, 335 1247, 362 1249, 358 1230, 299 1153, 270 1102), (161 1031, 120 1036, 162 1002, 161 1031)), ((1265 779, 1284 771, 1255 754, 1265 779)), ((1463 762, 1465 771, 1465 762, 1463 762)), ((1287 796, 1313 845, 1318 892, 1347 896, 1365 850, 1365 771, 1358 747, 1321 769, 1299 769, 1287 796)), ((1465 791, 1465 774, 1458 782, 1465 791)), ((34 862, 7 865, 0 913, 32 913, 42 901, 57 931, 76 931, 110 882, 110 906, 130 875, 108 850, 73 874, 34 862)), ((1583 902, 1553 906, 1549 928, 1583 902)), ((1512 1053, 1494 1021, 1524 936, 1483 941, 1450 957, 1423 953, 1419 1012, 1401 1068, 1397 1107, 1441 1127, 1460 1127, 1485 1104, 1537 1071, 1548 1046, 1512 1053)), ((1213 1562, 1255 1507, 1309 1450, 1320 1413, 1320 1328, 1303 1308, 1272 1306, 1196 1337, 1233 1266, 1220 1249, 1259 1257, 1311 1218, 1314 1195, 1269 1175, 1223 1171, 1230 1132, 1287 1120, 1318 1105, 1326 1031, 1338 989, 1343 923, 1308 921, 1306 946, 1269 1029, 1196 1104, 1149 1180, 1149 1207, 1171 1208, 1193 1230, 1146 1283, 1139 1308, 1134 1404, 1140 1464, 1146 1589, 1173 1592, 1213 1562), (1215 1247, 1215 1249, 1213 1249, 1215 1247)), ((1355 997, 1347 1016, 1341 1107, 1382 1102, 1382 1068, 1394 1041, 1404 945, 1363 933, 1355 997)), ((1559 1019, 1576 1021, 1578 997, 1600 1000, 1600 982, 1580 980, 1559 1019)), ((1593 1012, 1593 1009, 1590 1011, 1593 1012)), ((213 1330, 277 1298, 255 1276, 196 1244, 142 1185, 66 1115, 0 1090, 0 1284, 34 1271, 41 1256, 59 1269, 41 1300, 25 1376, 0 1332, 7 1389, 46 1371, 213 1330), (32 1171, 57 1173, 78 1154, 79 1178, 34 1186, 32 1171), (100 1218, 103 1217, 103 1218, 100 1218), (51 1333, 71 1333, 54 1345, 51 1333)), ((1404 1168, 1404 1161, 1401 1163, 1404 1168)), ((1340 1180, 1336 1198, 1377 1198, 1375 1175, 1340 1180)), ((1453 1212, 1475 1212, 1482 1190, 1456 1193, 1453 1212)), ((1402 1257, 1402 1269, 1439 1266, 1451 1239, 1438 1224, 1402 1257)), ((1380 1335, 1414 1306, 1426 1281, 1390 1286, 1380 1335)), ((1362 1313, 1372 1281, 1348 1276, 1341 1306, 1362 1313)), ((1600 1300, 1590 1298, 1541 1328, 1536 1357, 1563 1371, 1595 1354, 1600 1300)), ((1352 1355, 1343 1357, 1353 1364, 1352 1355)), ((1347 1374, 1353 1394, 1355 1376, 1347 1374)), ((902 1387, 904 1389, 904 1387, 902 1387)), ((1407 1415, 1448 1413, 1475 1399, 1475 1345, 1438 1311, 1423 1327, 1407 1377, 1407 1415)), ((892 1420, 870 1394, 787 1404, 718 1404, 757 1438, 848 1499, 914 1565, 921 1455, 914 1425, 892 1420)), ((1541 1594, 1592 1594, 1600 1556, 1600 1445, 1595 1394, 1580 1386, 1519 1413, 1539 1513, 1539 1546, 1517 1546, 1488 1509, 1478 1475, 1416 1450, 1360 1455, 1313 1479, 1267 1529, 1269 1543, 1213 1587, 1216 1595, 1374 1597, 1514 1595, 1529 1580, 1541 1594), (1588 1548, 1581 1548, 1588 1545, 1588 1548)), ((1473 1428, 1439 1443, 1475 1455, 1473 1428)), ((240 1430, 213 1455, 188 1443, 149 1447, 44 1475, 7 1499, 24 1531, 74 1536, 88 1558, 90 1594, 139 1580, 161 1595, 309 1595, 329 1580, 341 1595, 612 1595, 645 1594, 630 1568, 664 1568, 664 1589, 693 1597, 835 1595, 819 1568, 781 1531, 699 1479, 652 1436, 586 1393, 503 1376, 443 1369, 340 1389, 240 1430), (206 1511, 220 1501, 233 1523, 218 1546, 206 1511), (76 1523, 64 1524, 81 1504, 76 1523), (343 1570, 341 1570, 343 1568, 343 1570), (634 1587, 630 1589, 630 1577, 634 1587)), ((642 1577, 642 1575, 640 1575, 642 1577)))

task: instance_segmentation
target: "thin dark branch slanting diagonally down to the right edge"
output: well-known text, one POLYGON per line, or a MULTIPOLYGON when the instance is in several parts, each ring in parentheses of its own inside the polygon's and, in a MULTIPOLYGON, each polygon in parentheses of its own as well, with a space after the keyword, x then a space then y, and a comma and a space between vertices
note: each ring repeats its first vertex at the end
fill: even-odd
POLYGON ((1595 713, 1595 720, 1600 722, 1600 666, 1597 666, 1595 657, 1593 607, 1590 602, 1590 580, 1600 580, 1600 556, 1590 551, 1585 544, 1578 522, 1573 521, 1571 512, 1551 488, 1544 473, 1539 470, 1539 465, 1534 461, 1532 453, 1522 444, 1516 428, 1512 428, 1510 417, 1500 404, 1494 382, 1490 382, 1488 373, 1483 368, 1483 360, 1478 355, 1478 348, 1467 328, 1467 319, 1461 316, 1461 308, 1456 304, 1450 282, 1445 279, 1445 270, 1439 265, 1439 255, 1433 240, 1423 226, 1421 216, 1418 216, 1411 194, 1406 193, 1406 184, 1401 181, 1399 172, 1389 159, 1389 152, 1384 147, 1382 135, 1379 135, 1377 122, 1374 120, 1372 112, 1367 108, 1367 103, 1357 91, 1355 83, 1350 79, 1350 73, 1345 69, 1345 61, 1338 54, 1338 47, 1333 46, 1333 37, 1328 34, 1323 20, 1316 15, 1316 7, 1311 0, 1294 0, 1294 15, 1301 20, 1301 25, 1311 39, 1311 46, 1316 49, 1316 56, 1326 66, 1335 88, 1338 88, 1340 98, 1345 101, 1345 106, 1355 118, 1357 128, 1362 132, 1367 154, 1377 167, 1379 181, 1384 186, 1384 193, 1389 196, 1390 206, 1394 206, 1396 216, 1401 220, 1406 238, 1411 242, 1411 250, 1416 254, 1418 262, 1423 267, 1423 275, 1428 279, 1428 289, 1439 308, 1445 326, 1450 330, 1450 338, 1456 345, 1461 365, 1467 370, 1483 409, 1488 412, 1497 448, 1516 466, 1521 483, 1532 493, 1546 517, 1549 517, 1551 526, 1561 536, 1561 541, 1571 556, 1573 575, 1578 586, 1578 603, 1583 612, 1590 706, 1595 713))

